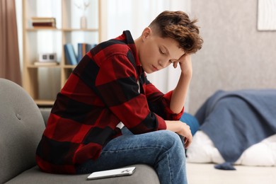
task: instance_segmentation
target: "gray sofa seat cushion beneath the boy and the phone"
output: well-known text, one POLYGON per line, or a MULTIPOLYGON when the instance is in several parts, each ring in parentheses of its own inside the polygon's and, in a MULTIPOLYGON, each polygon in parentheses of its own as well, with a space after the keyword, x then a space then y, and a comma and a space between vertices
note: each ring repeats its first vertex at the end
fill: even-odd
POLYGON ((49 184, 49 183, 91 183, 91 184, 107 184, 107 183, 120 183, 120 184, 156 184, 159 183, 159 178, 150 166, 144 164, 133 165, 137 169, 132 176, 120 176, 115 178, 103 178, 98 180, 86 180, 89 174, 83 175, 58 175, 52 173, 42 173, 38 166, 30 168, 28 171, 23 172, 21 175, 9 180, 6 184, 49 184))

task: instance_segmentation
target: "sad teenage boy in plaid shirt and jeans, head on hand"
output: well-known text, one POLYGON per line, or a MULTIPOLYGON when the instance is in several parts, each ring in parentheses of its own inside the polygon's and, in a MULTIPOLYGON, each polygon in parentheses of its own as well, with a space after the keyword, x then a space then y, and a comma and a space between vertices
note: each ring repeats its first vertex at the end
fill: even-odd
POLYGON ((179 119, 192 77, 190 54, 202 47, 195 22, 182 11, 163 11, 137 40, 126 30, 88 52, 57 94, 37 149, 42 171, 92 173, 146 163, 161 183, 187 183, 184 146, 192 134, 179 119), (181 74, 163 94, 146 74, 170 64, 181 74))

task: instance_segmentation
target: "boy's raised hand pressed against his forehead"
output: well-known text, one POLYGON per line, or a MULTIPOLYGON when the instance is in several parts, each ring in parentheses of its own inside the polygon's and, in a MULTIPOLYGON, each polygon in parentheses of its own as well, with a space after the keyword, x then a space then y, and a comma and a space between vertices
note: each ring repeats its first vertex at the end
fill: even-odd
POLYGON ((190 54, 184 54, 182 57, 180 57, 178 62, 173 62, 173 67, 176 68, 178 63, 183 74, 186 76, 192 76, 192 59, 190 54))

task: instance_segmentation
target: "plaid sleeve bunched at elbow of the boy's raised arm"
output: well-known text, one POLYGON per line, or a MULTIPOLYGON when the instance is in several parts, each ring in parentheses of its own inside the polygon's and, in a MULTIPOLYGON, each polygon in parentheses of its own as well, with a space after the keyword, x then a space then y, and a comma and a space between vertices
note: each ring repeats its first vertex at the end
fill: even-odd
POLYGON ((170 108, 171 96, 173 91, 169 91, 163 94, 159 89, 157 89, 153 84, 151 84, 145 76, 146 81, 146 98, 148 100, 149 109, 163 117, 164 120, 180 120, 183 115, 184 107, 180 113, 173 113, 170 108))

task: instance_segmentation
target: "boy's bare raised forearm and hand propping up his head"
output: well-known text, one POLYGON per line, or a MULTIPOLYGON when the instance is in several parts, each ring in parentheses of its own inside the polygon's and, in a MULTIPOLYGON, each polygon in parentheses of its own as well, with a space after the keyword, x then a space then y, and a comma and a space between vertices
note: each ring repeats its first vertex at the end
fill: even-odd
POLYGON ((185 99, 188 94, 188 87, 190 85, 190 79, 192 78, 192 62, 190 54, 184 54, 183 57, 180 57, 179 62, 174 62, 173 67, 177 67, 179 63, 181 74, 178 80, 176 88, 173 90, 171 96, 170 108, 173 113, 180 113, 183 110, 185 99))

